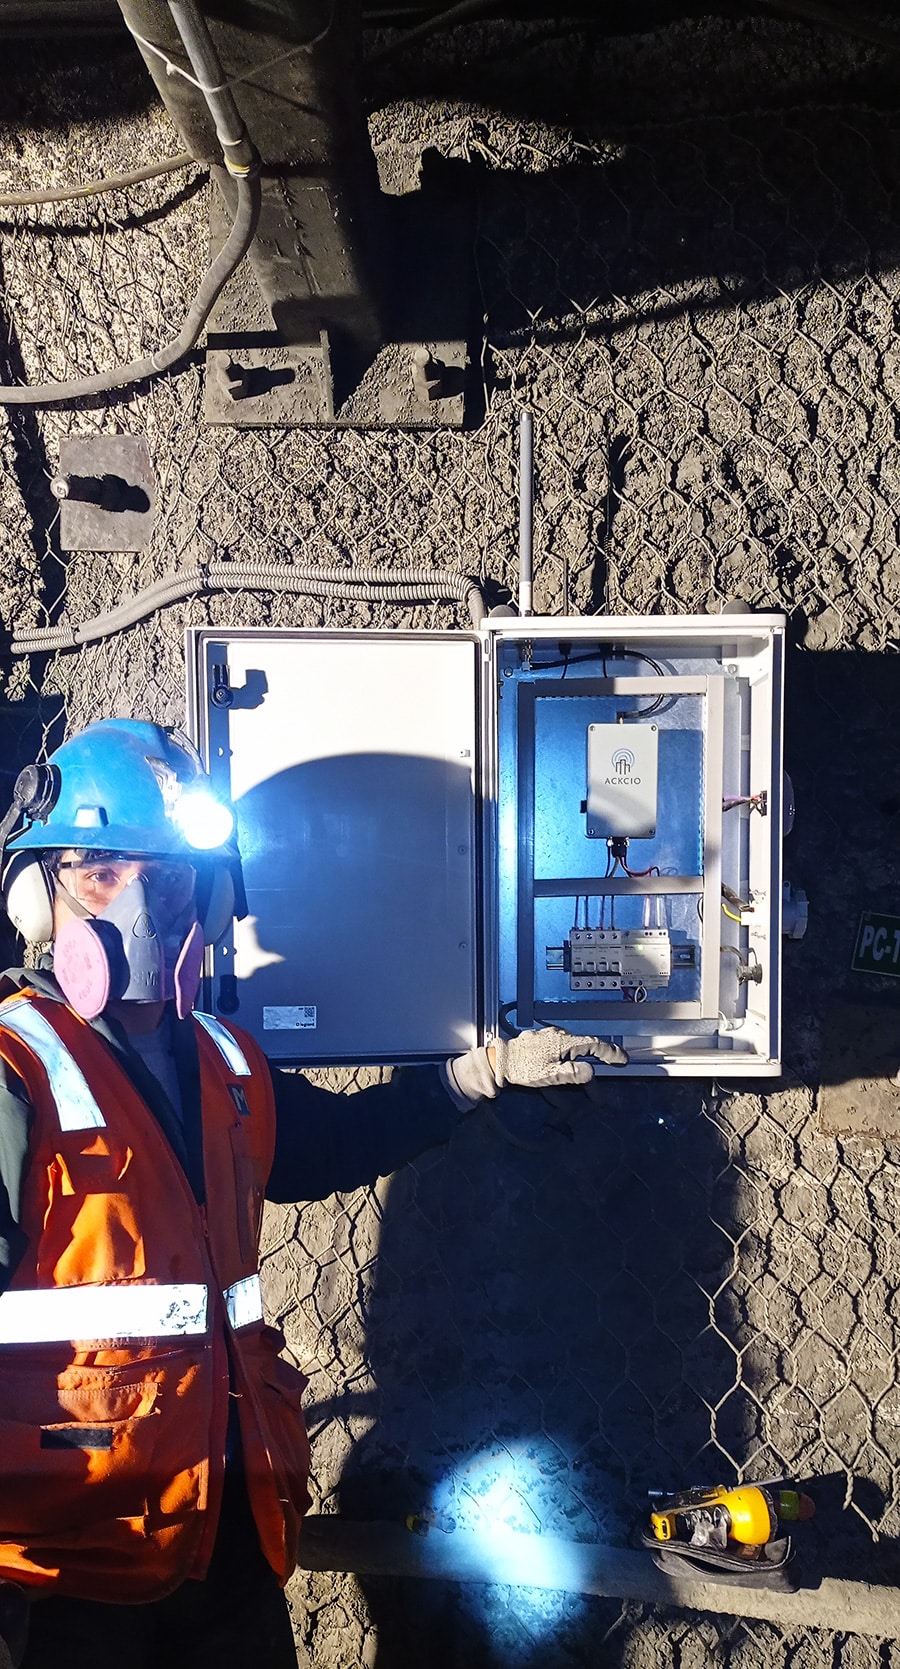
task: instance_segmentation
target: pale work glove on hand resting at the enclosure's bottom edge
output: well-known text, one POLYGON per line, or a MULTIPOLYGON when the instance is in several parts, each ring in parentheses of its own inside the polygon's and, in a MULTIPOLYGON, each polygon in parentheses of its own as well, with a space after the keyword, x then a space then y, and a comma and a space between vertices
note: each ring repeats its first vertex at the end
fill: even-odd
POLYGON ((576 1036, 559 1026, 521 1031, 516 1038, 498 1038, 493 1045, 494 1066, 486 1048, 473 1048, 447 1061, 451 1093, 466 1102, 493 1100, 506 1083, 524 1090, 549 1090, 593 1082, 591 1060, 604 1066, 626 1066, 628 1055, 603 1038, 576 1036), (586 1056, 586 1058, 584 1058, 586 1056))

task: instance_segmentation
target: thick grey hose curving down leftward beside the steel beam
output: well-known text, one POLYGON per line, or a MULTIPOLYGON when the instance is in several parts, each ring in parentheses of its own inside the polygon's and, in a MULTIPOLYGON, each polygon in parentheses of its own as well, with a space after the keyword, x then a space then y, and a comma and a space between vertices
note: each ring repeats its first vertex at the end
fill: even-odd
POLYGON ((132 382, 144 382, 184 359, 195 345, 220 290, 244 260, 257 229, 262 199, 259 169, 234 175, 234 184, 237 187, 234 225, 215 260, 207 267, 190 312, 172 342, 157 349, 155 354, 149 354, 147 359, 134 359, 129 366, 102 371, 95 377, 75 377, 72 382, 40 382, 35 387, 0 384, 0 406, 55 406, 60 401, 85 399, 88 394, 109 394, 110 389, 125 389, 132 382))

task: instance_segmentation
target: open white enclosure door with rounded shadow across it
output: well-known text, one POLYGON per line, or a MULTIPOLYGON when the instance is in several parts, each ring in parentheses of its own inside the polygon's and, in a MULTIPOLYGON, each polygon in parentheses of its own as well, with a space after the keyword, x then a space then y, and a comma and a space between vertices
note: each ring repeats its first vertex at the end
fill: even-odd
POLYGON ((195 729, 235 804, 249 908, 207 1003, 282 1063, 469 1048, 479 643, 192 636, 195 729))

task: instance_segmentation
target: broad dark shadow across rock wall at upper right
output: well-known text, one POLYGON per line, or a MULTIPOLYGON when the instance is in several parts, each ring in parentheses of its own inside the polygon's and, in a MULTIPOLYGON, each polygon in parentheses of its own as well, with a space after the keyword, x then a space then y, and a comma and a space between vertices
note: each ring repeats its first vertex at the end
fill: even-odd
MULTIPOLYGON (((661 110, 658 120, 621 137, 603 130, 599 155, 578 167, 483 175, 479 284, 494 345, 604 337, 690 312, 703 354, 706 314, 893 265, 892 112, 698 112, 670 125, 661 110)), ((852 317, 823 294, 810 299, 810 322, 815 347, 820 329, 852 317)))

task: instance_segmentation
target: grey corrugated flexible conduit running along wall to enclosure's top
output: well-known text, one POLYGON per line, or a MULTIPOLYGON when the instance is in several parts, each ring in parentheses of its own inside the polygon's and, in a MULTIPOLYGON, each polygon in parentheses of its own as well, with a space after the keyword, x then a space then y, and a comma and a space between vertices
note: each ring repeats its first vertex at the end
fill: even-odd
POLYGON ((484 619, 484 598, 476 579, 437 567, 284 567, 277 562, 207 562, 164 574, 145 591, 77 626, 32 626, 13 633, 13 654, 47 654, 77 649, 83 643, 114 638, 157 609, 210 591, 276 591, 304 598, 356 598, 361 603, 466 603, 473 626, 484 619))

